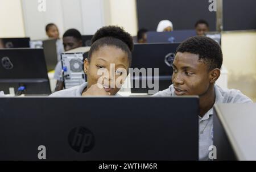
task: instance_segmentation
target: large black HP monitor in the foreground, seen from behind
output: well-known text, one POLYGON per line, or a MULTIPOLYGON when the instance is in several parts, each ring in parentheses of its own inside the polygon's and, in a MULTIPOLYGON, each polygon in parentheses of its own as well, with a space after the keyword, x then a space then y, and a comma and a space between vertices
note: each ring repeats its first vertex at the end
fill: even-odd
POLYGON ((0 98, 0 104, 0 160, 39 160, 43 149, 46 160, 199 159, 197 97, 0 98))

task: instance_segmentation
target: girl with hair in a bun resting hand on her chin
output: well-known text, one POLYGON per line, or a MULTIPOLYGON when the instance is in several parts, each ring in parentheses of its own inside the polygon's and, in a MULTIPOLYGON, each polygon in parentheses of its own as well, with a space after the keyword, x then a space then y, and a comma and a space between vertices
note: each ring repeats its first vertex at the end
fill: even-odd
POLYGON ((118 87, 115 81, 121 81, 122 85, 127 77, 131 65, 131 51, 133 51, 133 37, 129 33, 116 26, 100 28, 92 38, 92 46, 84 61, 87 82, 70 89, 57 91, 51 97, 116 95, 120 86, 118 87), (98 74, 98 72, 104 73, 98 74), (113 78, 109 74, 113 74, 113 78), (102 87, 99 87, 97 83, 102 87))

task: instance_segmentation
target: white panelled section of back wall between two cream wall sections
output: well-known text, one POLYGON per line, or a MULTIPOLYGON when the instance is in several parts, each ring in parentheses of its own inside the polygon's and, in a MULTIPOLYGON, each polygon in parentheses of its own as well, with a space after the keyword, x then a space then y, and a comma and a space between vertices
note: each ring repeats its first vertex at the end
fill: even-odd
POLYGON ((46 0, 46 12, 38 11, 38 1, 22 0, 26 35, 31 39, 46 38, 44 28, 55 23, 60 36, 69 28, 90 35, 104 26, 104 0, 46 0))

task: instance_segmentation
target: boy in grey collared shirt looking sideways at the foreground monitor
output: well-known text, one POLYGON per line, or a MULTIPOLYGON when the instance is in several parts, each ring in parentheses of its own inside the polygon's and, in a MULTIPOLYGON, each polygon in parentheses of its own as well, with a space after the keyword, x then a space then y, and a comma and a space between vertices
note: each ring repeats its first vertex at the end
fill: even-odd
MULTIPOLYGON (((185 40, 176 50, 172 85, 154 96, 199 96, 199 160, 208 160, 213 145, 213 105, 215 103, 252 103, 239 90, 222 89, 220 77, 222 51, 216 41, 205 36, 185 40)), ((184 108, 184 107, 180 107, 184 108)))

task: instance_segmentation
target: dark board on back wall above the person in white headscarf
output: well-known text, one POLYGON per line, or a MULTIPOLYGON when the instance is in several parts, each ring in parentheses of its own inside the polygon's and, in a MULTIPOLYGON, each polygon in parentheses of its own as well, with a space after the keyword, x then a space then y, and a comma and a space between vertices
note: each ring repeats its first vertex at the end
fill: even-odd
POLYGON ((196 21, 204 19, 208 21, 210 31, 215 31, 216 12, 210 12, 209 5, 208 0, 137 0, 139 28, 156 31, 160 20, 168 19, 174 30, 193 30, 196 21))

